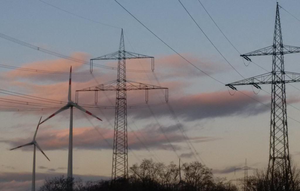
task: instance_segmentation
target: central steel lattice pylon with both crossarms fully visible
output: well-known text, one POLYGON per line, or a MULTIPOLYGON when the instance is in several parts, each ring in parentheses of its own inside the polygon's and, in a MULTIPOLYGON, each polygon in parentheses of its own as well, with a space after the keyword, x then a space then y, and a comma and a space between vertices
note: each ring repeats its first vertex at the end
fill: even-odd
POLYGON ((125 61, 126 59, 134 59, 134 58, 151 58, 152 71, 154 70, 154 57, 125 51, 123 29, 122 29, 119 51, 91 59, 91 63, 93 62, 93 60, 118 60, 117 80, 76 91, 77 100, 78 100, 79 91, 95 91, 95 102, 97 100, 98 91, 117 92, 114 144, 113 144, 113 169, 112 169, 113 181, 122 178, 128 178, 126 91, 146 90, 146 103, 147 103, 149 89, 165 89, 166 101, 168 101, 168 88, 126 80, 125 61))

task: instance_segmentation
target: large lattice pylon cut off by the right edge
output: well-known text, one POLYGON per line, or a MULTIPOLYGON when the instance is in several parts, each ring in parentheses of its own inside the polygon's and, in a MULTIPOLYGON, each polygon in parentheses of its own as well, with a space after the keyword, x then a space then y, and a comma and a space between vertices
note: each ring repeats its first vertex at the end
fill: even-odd
POLYGON ((272 71, 238 82, 226 84, 226 86, 235 90, 235 85, 253 85, 256 88, 260 88, 260 84, 272 85, 270 155, 267 174, 267 179, 271 176, 271 190, 274 190, 274 173, 276 171, 279 171, 284 175, 283 181, 285 183, 285 190, 294 190, 289 158, 285 84, 290 82, 300 82, 300 73, 284 71, 283 55, 298 52, 300 52, 300 47, 287 46, 282 43, 279 5, 277 3, 273 45, 240 55, 248 61, 251 61, 248 56, 272 55, 272 71))

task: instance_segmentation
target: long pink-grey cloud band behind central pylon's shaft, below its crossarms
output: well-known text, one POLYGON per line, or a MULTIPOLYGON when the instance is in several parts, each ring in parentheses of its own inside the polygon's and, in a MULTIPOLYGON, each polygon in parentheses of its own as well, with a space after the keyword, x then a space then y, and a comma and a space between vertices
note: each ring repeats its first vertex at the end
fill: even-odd
MULTIPOLYGON (((160 124, 148 124, 143 129, 128 131, 128 147, 132 150, 143 150, 149 148, 169 150, 180 150, 177 145, 180 142, 208 142, 214 141, 214 137, 187 137, 183 135, 182 125, 161 126, 160 124), (189 140, 187 140, 189 139, 189 140)), ((37 137, 37 142, 45 150, 67 150, 69 130, 47 130, 37 137)), ((113 147, 113 129, 100 127, 80 127, 73 129, 73 147, 77 149, 101 150, 113 147)), ((30 142, 30 139, 18 138, 14 140, 2 140, 12 147, 30 142)), ((32 151, 31 147, 20 148, 24 151, 32 151)), ((49 170, 49 169, 48 169, 49 170)))

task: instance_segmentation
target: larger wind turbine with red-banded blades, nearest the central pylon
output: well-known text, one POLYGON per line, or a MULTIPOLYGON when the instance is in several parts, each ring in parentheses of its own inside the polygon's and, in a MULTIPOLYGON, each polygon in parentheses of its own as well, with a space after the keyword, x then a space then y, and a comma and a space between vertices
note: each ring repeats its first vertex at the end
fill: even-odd
POLYGON ((48 119, 52 118, 54 115, 70 108, 70 132, 69 132, 69 153, 68 153, 68 173, 67 178, 73 178, 73 107, 76 107, 77 109, 80 109, 81 111, 87 113, 88 115, 93 116, 94 118, 99 119, 96 115, 92 114, 91 112, 83 109, 81 106, 79 106, 77 103, 74 103, 71 101, 71 74, 72 74, 72 66, 70 68, 70 79, 69 79, 69 93, 68 93, 68 103, 67 105, 63 106, 61 109, 58 109, 57 112, 50 115, 48 118, 46 118, 44 121, 42 121, 40 124, 44 123, 48 119))

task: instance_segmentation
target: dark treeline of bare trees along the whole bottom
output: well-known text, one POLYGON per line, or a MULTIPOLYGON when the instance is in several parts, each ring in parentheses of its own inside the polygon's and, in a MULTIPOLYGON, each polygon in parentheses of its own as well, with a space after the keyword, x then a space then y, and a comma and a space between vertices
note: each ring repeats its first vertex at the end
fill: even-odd
MULTIPOLYGON (((237 186, 226 178, 214 178, 212 169, 199 162, 184 163, 179 166, 171 162, 169 165, 144 159, 129 168, 129 178, 118 181, 99 180, 83 182, 80 179, 70 179, 64 176, 46 179, 39 191, 70 191, 68 185, 73 183, 73 191, 238 191, 237 186), (181 177, 181 178, 180 178, 181 177)), ((280 168, 274 171, 274 183, 267 178, 267 169, 254 172, 248 181, 240 185, 247 191, 300 191, 300 171, 292 167, 293 181, 284 185, 284 173, 280 168), (292 185, 294 189, 292 188, 292 185)))

